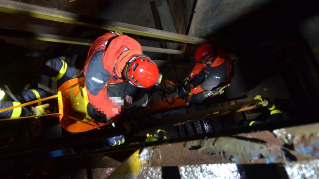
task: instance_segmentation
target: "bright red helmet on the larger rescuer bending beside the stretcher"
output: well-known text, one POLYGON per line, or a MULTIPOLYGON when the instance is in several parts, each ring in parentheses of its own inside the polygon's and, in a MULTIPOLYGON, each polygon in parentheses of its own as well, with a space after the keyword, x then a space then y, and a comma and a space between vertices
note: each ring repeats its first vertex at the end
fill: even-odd
POLYGON ((150 87, 161 83, 162 74, 157 65, 146 55, 134 56, 124 69, 125 78, 134 86, 150 87))

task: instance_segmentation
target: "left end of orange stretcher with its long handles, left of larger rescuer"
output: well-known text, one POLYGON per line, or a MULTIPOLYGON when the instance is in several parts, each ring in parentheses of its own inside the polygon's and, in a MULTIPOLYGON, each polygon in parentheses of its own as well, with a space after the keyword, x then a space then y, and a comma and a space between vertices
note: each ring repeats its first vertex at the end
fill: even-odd
POLYGON ((0 112, 32 105, 38 102, 54 98, 58 99, 58 113, 48 113, 42 115, 25 116, 1 120, 3 121, 24 118, 36 118, 41 116, 55 116, 59 117, 61 127, 69 132, 85 132, 95 128, 100 129, 100 127, 102 126, 110 125, 116 122, 115 119, 111 119, 107 123, 97 122, 89 116, 87 112, 87 105, 89 101, 84 78, 74 78, 64 82, 58 88, 57 95, 53 95, 39 100, 34 100, 31 102, 23 103, 5 109, 0 109, 0 112))

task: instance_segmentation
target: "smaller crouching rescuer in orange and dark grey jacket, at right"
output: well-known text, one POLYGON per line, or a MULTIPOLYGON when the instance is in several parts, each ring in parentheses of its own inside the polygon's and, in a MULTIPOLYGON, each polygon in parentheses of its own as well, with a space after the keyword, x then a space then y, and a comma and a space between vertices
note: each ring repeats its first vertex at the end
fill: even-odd
POLYGON ((201 103, 230 82, 234 69, 229 56, 210 44, 198 47, 194 60, 196 64, 184 81, 191 84, 191 103, 201 103))

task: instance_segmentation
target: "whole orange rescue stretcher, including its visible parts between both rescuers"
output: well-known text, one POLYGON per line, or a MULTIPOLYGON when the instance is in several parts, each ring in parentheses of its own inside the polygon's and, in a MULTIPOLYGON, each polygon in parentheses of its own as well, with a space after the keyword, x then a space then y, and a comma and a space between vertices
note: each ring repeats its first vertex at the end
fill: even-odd
MULTIPOLYGON (((172 80, 163 80, 162 82, 177 85, 176 81, 172 80)), ((228 85, 223 86, 218 94, 222 94, 223 89, 228 85)), ((214 94, 215 95, 215 94, 214 94)), ((216 94, 217 95, 217 94, 216 94)), ((1 119, 1 120, 14 120, 14 119, 23 119, 23 118, 36 118, 41 116, 55 116, 59 117, 60 125, 62 128, 69 132, 85 132, 92 129, 100 129, 102 126, 111 125, 112 123, 118 122, 119 118, 113 118, 107 123, 97 122, 90 117, 87 112, 87 105, 89 103, 88 94, 85 86, 85 78, 74 78, 64 82, 59 88, 57 95, 51 97, 27 102, 17 106, 12 106, 5 109, 0 109, 0 112, 12 110, 18 107, 28 106, 38 102, 58 99, 58 113, 49 113, 42 114, 37 116, 26 116, 10 119, 1 119)), ((155 114, 157 112, 186 107, 189 105, 191 96, 182 98, 179 95, 176 95, 171 98, 164 98, 161 101, 147 105, 145 108, 141 108, 136 111, 134 117, 145 116, 147 114, 155 114)))

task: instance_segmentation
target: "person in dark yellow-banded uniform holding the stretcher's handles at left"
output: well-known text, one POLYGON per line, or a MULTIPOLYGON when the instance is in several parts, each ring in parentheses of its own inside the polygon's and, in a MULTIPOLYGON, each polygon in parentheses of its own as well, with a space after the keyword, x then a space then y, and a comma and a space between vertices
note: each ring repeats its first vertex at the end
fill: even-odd
MULTIPOLYGON (((6 92, 0 89, 0 109, 9 108, 12 106, 18 106, 22 103, 38 100, 47 97, 47 92, 42 88, 29 89, 27 91, 23 91, 20 95, 13 95, 10 89, 7 89, 6 92), (9 98, 9 97, 10 98, 9 98)), ((39 102, 37 106, 32 107, 18 107, 12 110, 0 112, 0 119, 15 119, 19 117, 26 116, 39 116, 42 114, 46 114, 46 108, 48 108, 50 104, 41 104, 39 102)), ((38 117, 35 117, 38 118, 38 117)))

